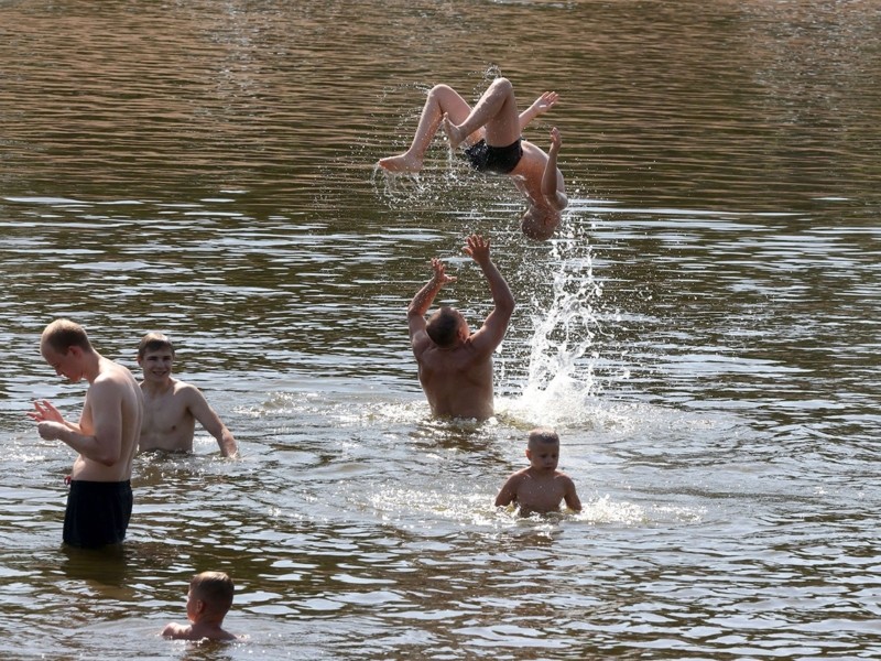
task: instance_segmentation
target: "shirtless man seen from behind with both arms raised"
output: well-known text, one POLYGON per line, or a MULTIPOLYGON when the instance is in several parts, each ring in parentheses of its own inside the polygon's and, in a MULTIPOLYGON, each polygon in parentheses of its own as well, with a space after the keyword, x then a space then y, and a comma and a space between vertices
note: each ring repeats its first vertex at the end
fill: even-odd
POLYGON ((456 279, 446 274, 444 263, 432 260, 434 275, 407 307, 410 343, 420 368, 420 382, 434 415, 492 416, 492 353, 514 312, 514 297, 489 256, 489 240, 468 237, 464 248, 489 282, 494 307, 483 325, 470 333, 465 317, 454 307, 442 307, 425 321, 437 292, 456 279))

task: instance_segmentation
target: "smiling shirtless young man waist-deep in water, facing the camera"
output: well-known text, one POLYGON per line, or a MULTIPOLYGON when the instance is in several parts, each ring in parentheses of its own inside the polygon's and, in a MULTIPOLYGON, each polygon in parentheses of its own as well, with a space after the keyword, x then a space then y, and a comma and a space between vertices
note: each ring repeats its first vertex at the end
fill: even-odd
POLYGON ((162 333, 148 333, 138 345, 138 365, 143 370, 144 422, 140 451, 193 452, 196 421, 217 440, 220 454, 238 453, 236 438, 208 404, 202 391, 172 378, 174 345, 162 333))

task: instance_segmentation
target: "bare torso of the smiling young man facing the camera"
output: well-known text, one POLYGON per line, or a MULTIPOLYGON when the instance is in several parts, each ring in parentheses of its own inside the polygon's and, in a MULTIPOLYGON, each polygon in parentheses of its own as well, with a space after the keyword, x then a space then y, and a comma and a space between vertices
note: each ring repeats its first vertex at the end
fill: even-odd
POLYGON ((144 420, 140 451, 191 452, 196 419, 189 409, 188 383, 171 379, 164 389, 143 387, 144 420))

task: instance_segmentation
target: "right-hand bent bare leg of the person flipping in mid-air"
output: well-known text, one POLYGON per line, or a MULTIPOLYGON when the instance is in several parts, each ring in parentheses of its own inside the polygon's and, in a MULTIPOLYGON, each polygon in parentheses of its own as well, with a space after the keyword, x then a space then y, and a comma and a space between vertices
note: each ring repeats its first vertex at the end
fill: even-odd
POLYGON ((496 78, 465 119, 444 117, 444 130, 454 149, 481 127, 488 144, 507 147, 520 138, 520 113, 508 78, 496 78))

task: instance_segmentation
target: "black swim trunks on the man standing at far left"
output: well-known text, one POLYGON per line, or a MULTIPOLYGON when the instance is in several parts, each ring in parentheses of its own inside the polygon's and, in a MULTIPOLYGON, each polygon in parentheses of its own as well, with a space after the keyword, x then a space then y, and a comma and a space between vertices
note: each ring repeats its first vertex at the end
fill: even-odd
POLYGON ((132 508, 131 481, 70 480, 64 513, 64 542, 97 549, 126 539, 132 508))

